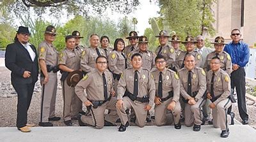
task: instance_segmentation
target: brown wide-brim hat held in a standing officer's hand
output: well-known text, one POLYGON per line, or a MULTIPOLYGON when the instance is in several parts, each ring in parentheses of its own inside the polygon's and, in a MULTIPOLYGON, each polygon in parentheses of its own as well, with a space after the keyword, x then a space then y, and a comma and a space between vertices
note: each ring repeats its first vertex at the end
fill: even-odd
POLYGON ((68 73, 67 85, 70 87, 75 87, 77 83, 83 78, 82 71, 72 71, 68 73))

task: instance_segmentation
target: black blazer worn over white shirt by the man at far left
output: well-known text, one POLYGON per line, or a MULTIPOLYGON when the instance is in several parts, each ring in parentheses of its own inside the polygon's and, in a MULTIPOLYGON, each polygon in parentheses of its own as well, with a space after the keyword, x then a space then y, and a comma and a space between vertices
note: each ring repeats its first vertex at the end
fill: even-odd
POLYGON ((36 54, 34 61, 19 41, 6 47, 5 66, 12 71, 12 83, 35 83, 38 80, 38 55, 35 46, 30 46, 36 54), (23 78, 24 71, 30 71, 31 76, 23 78))

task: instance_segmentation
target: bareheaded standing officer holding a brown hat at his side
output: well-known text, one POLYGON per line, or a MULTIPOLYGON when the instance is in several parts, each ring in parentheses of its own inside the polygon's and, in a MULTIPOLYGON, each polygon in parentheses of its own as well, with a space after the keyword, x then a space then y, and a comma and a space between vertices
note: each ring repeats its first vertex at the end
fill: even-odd
POLYGON ((65 38, 66 48, 59 55, 58 66, 62 71, 61 86, 63 94, 63 118, 64 124, 72 126, 71 118, 77 115, 82 104, 81 101, 76 101, 74 87, 67 85, 67 75, 73 71, 80 69, 80 52, 75 48, 75 37, 68 35, 65 38), (76 113, 74 113, 76 111, 76 113))

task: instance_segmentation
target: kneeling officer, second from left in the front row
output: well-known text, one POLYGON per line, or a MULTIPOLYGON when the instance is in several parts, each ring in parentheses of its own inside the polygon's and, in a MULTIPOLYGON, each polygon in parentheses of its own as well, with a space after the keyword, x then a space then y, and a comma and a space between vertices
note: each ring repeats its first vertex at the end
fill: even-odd
POLYGON ((141 58, 140 53, 132 55, 132 68, 125 69, 118 82, 116 111, 121 119, 121 125, 118 129, 120 132, 124 132, 129 126, 125 110, 133 108, 136 115, 136 125, 144 127, 147 111, 154 104, 156 92, 154 79, 148 69, 141 67, 141 58))

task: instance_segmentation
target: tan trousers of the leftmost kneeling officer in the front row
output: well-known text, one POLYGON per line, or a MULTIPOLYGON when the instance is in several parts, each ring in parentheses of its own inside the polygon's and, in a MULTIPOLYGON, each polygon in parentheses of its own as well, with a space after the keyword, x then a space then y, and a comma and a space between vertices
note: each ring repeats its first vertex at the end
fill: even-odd
POLYGON ((109 101, 98 106, 96 109, 92 106, 90 110, 92 115, 83 115, 81 117, 82 122, 95 126, 96 129, 102 129, 102 127, 104 127, 104 111, 108 109, 111 111, 105 116, 105 120, 115 124, 116 120, 119 118, 116 113, 116 101, 116 97, 111 97, 109 101))

